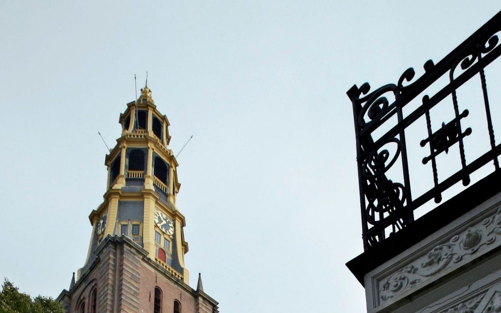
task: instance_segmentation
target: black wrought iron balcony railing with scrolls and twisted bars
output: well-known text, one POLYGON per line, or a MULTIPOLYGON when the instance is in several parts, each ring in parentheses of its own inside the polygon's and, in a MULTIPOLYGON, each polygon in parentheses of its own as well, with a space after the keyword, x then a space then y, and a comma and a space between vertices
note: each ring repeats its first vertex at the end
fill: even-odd
MULTIPOLYGON (((489 171, 499 170, 501 145, 495 143, 494 125, 501 125, 501 120, 496 120, 496 124, 493 124, 491 109, 494 107, 489 105, 484 70, 501 55, 498 38, 501 33, 496 34, 500 31, 501 12, 436 65, 431 60, 427 61, 424 64, 424 74, 415 81, 411 82, 415 76, 414 69, 409 68, 400 76, 397 84, 388 84, 369 92, 370 86, 365 83, 360 87, 354 85, 347 92, 354 113, 365 249, 411 223, 414 220, 414 210, 429 200, 434 199, 439 203, 442 193, 451 186, 458 182, 468 185, 471 174, 480 168, 483 170, 484 165, 491 163, 489 171), (482 96, 476 103, 464 101, 460 104, 457 91, 470 79, 473 81, 473 77, 479 78, 482 96), (442 78, 446 80, 445 83, 442 83, 442 78), (437 84, 440 85, 438 92, 432 93, 431 89, 436 88, 437 84), (413 102, 420 95, 422 100, 413 102), (411 102, 411 106, 405 107, 411 102), (475 112, 483 111, 483 121, 468 119, 473 111, 460 110, 460 105, 468 105, 475 112), (447 109, 451 116, 446 117, 441 126, 437 126, 437 120, 442 121, 447 109), (484 125, 477 129, 479 122, 484 125), (484 137, 488 137, 488 144, 481 152, 476 151, 478 147, 470 148, 475 149, 477 156, 467 158, 466 137, 473 130, 466 126, 473 124, 475 135, 484 132, 484 137), (415 135, 407 136, 406 140, 410 129, 414 130, 419 126, 424 134, 420 140, 415 135), (429 153, 420 160, 420 168, 409 169, 409 157, 416 159, 409 151, 421 149, 417 154, 423 154, 426 147, 429 153), (457 154, 451 151, 457 151, 457 154), (437 158, 442 158, 443 152, 448 158, 455 155, 458 159, 458 168, 450 175, 444 174, 447 171, 437 165, 437 158), (423 190, 419 180, 417 184, 412 180, 411 188, 409 173, 414 176, 429 175, 433 183, 423 190), (399 181, 390 179, 390 176, 399 181), (416 187, 422 192, 413 198, 411 191, 416 187)), ((493 74, 495 79, 501 78, 499 71, 494 71, 493 74)), ((496 85, 495 80, 489 82, 491 87, 496 85)), ((467 96, 469 98, 470 93, 467 96)), ((495 103, 496 108, 499 106, 500 103, 495 103)), ((471 140, 468 139, 468 142, 471 140)))

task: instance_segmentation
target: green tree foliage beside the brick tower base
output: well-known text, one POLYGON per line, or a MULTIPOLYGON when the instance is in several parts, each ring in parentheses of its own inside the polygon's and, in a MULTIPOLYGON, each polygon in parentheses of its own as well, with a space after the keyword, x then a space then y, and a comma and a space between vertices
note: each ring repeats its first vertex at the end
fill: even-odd
POLYGON ((51 297, 39 295, 32 299, 6 278, 0 292, 0 313, 64 313, 64 308, 51 297))

